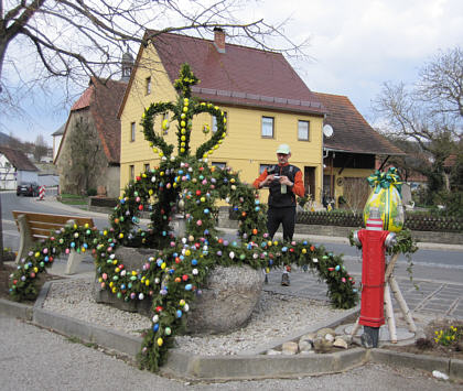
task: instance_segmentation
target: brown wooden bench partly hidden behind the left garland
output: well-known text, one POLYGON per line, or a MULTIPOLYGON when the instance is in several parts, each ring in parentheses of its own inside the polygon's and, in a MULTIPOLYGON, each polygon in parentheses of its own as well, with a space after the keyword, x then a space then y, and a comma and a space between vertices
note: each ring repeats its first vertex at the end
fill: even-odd
MULTIPOLYGON (((36 241, 51 237, 54 231, 63 227, 74 224, 78 226, 88 224, 90 228, 95 226, 90 217, 37 214, 21 210, 13 210, 12 214, 21 235, 15 263, 20 263, 21 259, 28 256, 29 250, 36 241)), ((83 254, 72 250, 67 260, 65 274, 74 274, 82 258, 83 254)))

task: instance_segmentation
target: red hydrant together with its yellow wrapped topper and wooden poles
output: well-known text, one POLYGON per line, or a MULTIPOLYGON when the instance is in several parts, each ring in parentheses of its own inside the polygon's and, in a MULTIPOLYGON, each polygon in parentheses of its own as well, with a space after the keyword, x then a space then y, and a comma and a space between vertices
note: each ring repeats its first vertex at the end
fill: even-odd
POLYGON ((409 330, 414 333, 417 326, 392 274, 399 252, 396 251, 391 256, 387 268, 385 264, 386 249, 396 243, 396 233, 394 232, 400 232, 403 227, 405 215, 400 195, 400 178, 397 170, 390 167, 387 173, 376 171, 367 181, 374 192, 365 204, 366 229, 354 232, 354 241, 363 249, 363 289, 360 316, 352 330, 352 336, 354 337, 363 325, 362 345, 373 348, 378 346, 379 327, 385 322, 388 324, 390 341, 397 344, 391 292, 400 306, 409 330))

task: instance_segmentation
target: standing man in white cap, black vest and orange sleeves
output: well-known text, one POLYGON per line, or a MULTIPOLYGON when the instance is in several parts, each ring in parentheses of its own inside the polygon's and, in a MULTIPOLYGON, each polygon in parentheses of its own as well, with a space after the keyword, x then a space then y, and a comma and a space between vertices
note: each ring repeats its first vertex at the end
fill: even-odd
MULTIPOLYGON (((295 196, 304 196, 302 172, 295 165, 288 163, 290 158, 291 149, 288 144, 278 146, 278 164, 266 169, 252 184, 256 188, 269 187, 267 230, 272 240, 280 224, 283 226, 283 241, 292 240, 295 225, 295 196)), ((289 267, 284 268, 281 285, 290 284, 288 271, 289 267)))

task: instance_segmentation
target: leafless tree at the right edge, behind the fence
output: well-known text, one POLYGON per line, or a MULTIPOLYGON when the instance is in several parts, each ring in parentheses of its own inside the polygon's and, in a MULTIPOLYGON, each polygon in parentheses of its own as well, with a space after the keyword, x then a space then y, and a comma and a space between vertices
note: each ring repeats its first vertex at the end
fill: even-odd
POLYGON ((374 102, 386 123, 383 132, 396 140, 414 141, 422 155, 429 156, 429 164, 419 166, 428 177, 428 200, 445 185, 445 159, 459 151, 462 99, 463 55, 455 47, 426 64, 413 87, 385 83, 374 102))

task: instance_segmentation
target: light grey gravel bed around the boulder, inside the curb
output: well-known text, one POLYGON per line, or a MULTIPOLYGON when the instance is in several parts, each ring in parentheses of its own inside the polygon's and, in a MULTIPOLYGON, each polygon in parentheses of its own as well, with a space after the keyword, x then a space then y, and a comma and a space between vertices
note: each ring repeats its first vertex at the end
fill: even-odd
MULTIPOLYGON (((131 335, 140 335, 151 327, 151 321, 146 316, 96 303, 88 280, 54 282, 44 308, 131 335)), ((175 343, 177 348, 197 355, 236 355, 343 312, 331 308, 326 302, 262 291, 261 300, 245 327, 226 335, 176 336, 175 343)))

